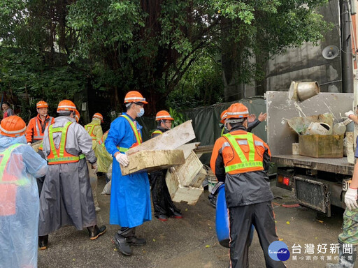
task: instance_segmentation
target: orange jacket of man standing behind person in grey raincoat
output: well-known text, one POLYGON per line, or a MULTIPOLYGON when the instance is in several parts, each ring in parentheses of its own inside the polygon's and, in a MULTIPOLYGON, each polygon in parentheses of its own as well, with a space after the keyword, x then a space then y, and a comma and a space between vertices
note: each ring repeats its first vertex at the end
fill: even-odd
POLYGON ((47 115, 45 120, 41 119, 40 114, 37 117, 31 118, 26 130, 27 142, 36 142, 43 139, 43 132, 48 125, 55 123, 55 118, 47 115))

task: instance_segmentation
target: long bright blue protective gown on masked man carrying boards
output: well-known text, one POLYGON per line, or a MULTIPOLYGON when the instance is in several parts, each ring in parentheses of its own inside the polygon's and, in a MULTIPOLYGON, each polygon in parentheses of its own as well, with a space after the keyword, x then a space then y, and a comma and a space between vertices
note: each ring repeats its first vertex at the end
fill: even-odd
MULTIPOLYGON (((129 117, 128 114, 127 116, 129 117)), ((141 133, 142 127, 138 123, 136 123, 136 127, 141 133)), ((136 137, 127 119, 118 117, 110 124, 110 131, 105 141, 108 153, 113 156, 109 223, 129 228, 152 219, 147 172, 122 176, 120 164, 114 158, 115 152, 119 151, 117 146, 130 148, 135 142, 136 137)))

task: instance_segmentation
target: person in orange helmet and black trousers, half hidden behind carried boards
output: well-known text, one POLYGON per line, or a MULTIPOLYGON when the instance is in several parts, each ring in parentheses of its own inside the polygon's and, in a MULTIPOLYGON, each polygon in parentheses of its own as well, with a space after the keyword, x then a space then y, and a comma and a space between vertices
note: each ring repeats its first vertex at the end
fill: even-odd
MULTIPOLYGON (((153 131, 152 137, 162 135, 171 129, 173 117, 166 111, 159 111, 155 116, 157 121, 157 129, 153 131)), ((159 221, 167 221, 168 216, 173 218, 182 218, 180 209, 171 200, 168 187, 166 186, 165 174, 167 170, 155 170, 150 172, 150 187, 152 191, 152 201, 154 207, 154 215, 159 221)))

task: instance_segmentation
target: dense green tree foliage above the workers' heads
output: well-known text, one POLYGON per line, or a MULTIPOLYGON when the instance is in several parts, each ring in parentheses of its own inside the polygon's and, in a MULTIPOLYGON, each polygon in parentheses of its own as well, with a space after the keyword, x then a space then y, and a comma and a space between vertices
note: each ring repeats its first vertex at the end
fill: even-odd
POLYGON ((317 42, 328 25, 315 9, 327 1, 3 0, 0 40, 43 65, 34 72, 56 76, 61 66, 70 81, 73 73, 89 77, 115 105, 127 91, 141 91, 155 113, 166 101, 179 107, 180 94, 187 106, 220 101, 221 69, 213 59, 229 63, 238 82, 250 82, 263 75, 255 56, 262 61, 317 42), (56 63, 57 53, 66 64, 56 63))

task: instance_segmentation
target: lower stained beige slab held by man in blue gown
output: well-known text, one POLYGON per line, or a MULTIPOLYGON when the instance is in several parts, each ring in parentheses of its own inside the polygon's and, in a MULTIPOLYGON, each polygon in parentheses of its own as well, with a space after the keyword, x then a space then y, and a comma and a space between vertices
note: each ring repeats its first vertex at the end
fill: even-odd
POLYGON ((123 176, 136 172, 163 170, 185 163, 182 150, 137 151, 129 155, 128 159, 127 167, 120 166, 123 176))

